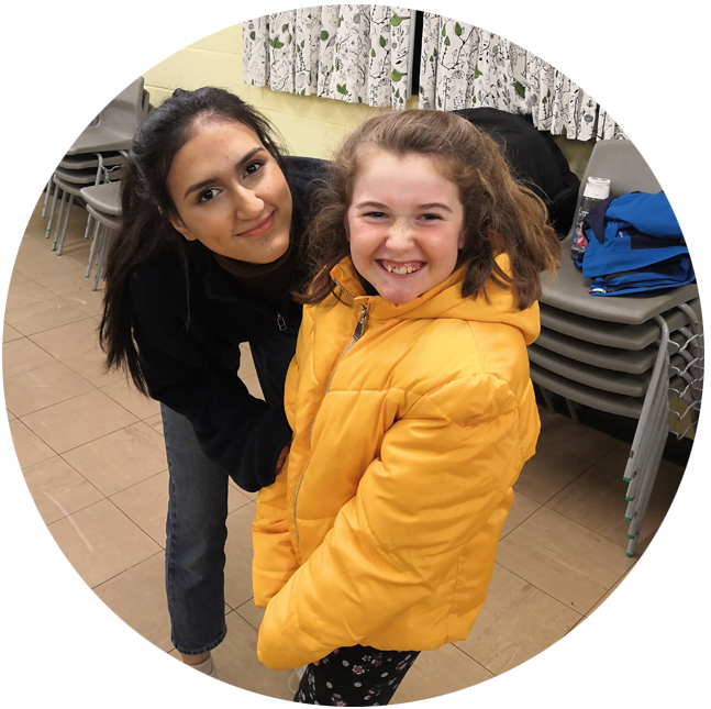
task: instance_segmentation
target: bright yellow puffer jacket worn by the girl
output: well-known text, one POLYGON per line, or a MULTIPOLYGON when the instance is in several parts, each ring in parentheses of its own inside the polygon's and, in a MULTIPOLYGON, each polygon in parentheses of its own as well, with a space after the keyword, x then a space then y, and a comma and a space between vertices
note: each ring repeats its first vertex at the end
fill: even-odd
POLYGON ((538 436, 526 345, 540 318, 492 287, 488 303, 464 300, 463 275, 395 306, 365 296, 345 259, 344 302, 304 308, 293 443, 253 524, 257 654, 274 669, 356 644, 433 650, 481 609, 538 436))

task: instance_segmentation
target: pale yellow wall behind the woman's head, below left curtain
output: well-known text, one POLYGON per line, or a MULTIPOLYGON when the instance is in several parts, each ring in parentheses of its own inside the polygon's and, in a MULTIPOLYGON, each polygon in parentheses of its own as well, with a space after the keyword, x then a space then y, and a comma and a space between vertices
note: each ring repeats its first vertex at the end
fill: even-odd
MULTIPOLYGON (((160 104, 176 88, 210 85, 233 91, 271 120, 292 155, 329 158, 353 128, 384 110, 247 86, 242 78, 242 23, 189 44, 143 76, 153 106, 160 104)), ((416 104, 414 96, 408 107, 416 104)))

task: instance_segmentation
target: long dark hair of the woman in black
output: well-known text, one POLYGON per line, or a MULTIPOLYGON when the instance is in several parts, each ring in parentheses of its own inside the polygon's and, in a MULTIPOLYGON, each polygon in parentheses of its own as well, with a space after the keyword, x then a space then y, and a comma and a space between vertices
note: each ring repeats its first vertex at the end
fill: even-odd
POLYGON ((176 153, 195 135, 198 121, 205 119, 236 121, 251 128, 285 169, 285 151, 269 121, 223 89, 177 89, 136 131, 121 182, 121 226, 114 234, 107 259, 99 342, 107 355, 107 370, 124 369, 146 395, 146 381, 133 340, 129 279, 136 266, 156 258, 165 250, 182 258, 187 276, 188 242, 170 223, 169 218, 177 215, 177 210, 167 180, 176 153))

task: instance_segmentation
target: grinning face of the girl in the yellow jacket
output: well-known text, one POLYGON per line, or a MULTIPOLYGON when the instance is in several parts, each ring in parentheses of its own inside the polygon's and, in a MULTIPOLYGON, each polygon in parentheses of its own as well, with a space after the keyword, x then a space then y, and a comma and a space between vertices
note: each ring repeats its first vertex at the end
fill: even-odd
POLYGON ((396 304, 448 278, 464 246, 458 189, 424 155, 366 148, 346 219, 354 266, 396 304))

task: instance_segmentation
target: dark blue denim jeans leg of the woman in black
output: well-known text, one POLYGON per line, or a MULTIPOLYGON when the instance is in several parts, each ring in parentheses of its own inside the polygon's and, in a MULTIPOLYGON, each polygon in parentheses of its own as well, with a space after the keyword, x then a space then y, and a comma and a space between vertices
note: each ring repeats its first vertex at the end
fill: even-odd
POLYGON ((224 622, 227 473, 208 458, 192 424, 160 405, 168 472, 166 592, 171 641, 184 655, 216 647, 224 622))

